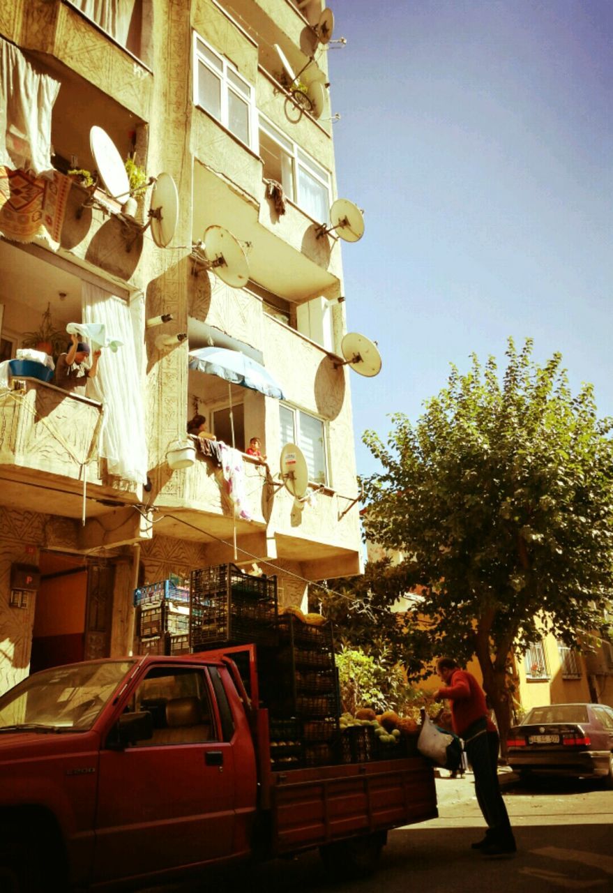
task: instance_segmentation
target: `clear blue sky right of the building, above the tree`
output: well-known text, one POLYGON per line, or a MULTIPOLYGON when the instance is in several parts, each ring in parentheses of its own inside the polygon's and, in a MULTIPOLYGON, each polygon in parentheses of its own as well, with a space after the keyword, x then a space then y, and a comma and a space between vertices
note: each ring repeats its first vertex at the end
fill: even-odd
POLYGON ((352 374, 358 471, 390 413, 417 420, 469 355, 559 350, 613 415, 613 0, 330 0, 348 328, 383 369, 352 374))

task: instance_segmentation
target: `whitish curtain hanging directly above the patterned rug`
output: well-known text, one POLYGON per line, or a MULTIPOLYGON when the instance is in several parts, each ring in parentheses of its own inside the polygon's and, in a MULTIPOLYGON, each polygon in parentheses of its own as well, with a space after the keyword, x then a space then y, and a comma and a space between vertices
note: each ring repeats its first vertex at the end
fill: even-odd
POLYGON ((59 92, 58 80, 37 74, 0 38, 0 164, 37 176, 52 170, 51 113, 59 92))

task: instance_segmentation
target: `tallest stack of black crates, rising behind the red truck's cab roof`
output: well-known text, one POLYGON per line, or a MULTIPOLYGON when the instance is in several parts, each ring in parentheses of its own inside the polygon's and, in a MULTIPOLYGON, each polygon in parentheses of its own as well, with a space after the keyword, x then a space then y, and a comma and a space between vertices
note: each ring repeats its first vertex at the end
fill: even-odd
POLYGON ((244 642, 274 646, 278 641, 277 624, 276 577, 254 577, 235 564, 192 572, 192 650, 244 642))

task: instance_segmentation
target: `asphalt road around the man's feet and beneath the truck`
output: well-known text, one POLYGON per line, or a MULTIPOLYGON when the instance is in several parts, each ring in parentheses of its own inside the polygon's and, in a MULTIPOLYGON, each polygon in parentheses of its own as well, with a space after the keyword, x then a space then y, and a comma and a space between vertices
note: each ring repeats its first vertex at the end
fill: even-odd
MULTIPOLYGON (((441 775, 447 775, 442 771, 441 775)), ((439 818, 389 835, 379 870, 334 883, 316 853, 226 869, 206 880, 140 893, 551 893, 613 889, 613 791, 585 780, 543 780, 526 789, 508 770, 501 785, 518 841, 512 857, 470 849, 483 836, 472 774, 436 781, 439 818)))

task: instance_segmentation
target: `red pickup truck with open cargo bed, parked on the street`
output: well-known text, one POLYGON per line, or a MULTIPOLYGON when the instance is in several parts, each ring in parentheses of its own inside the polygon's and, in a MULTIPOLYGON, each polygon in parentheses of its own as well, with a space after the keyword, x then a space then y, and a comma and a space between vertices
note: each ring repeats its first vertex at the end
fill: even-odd
POLYGON ((0 698, 0 889, 161 883, 312 847, 369 869, 387 830, 437 815, 419 756, 270 763, 268 712, 219 653, 35 673, 0 698))

